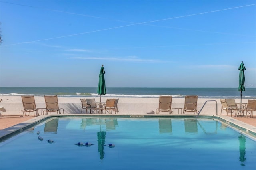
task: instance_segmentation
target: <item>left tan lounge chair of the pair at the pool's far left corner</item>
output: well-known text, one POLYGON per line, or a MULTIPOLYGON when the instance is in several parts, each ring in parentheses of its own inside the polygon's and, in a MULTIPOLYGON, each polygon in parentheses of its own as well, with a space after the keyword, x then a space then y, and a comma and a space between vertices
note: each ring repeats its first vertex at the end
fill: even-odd
POLYGON ((34 113, 36 112, 36 116, 39 115, 38 109, 36 109, 36 102, 34 96, 21 96, 22 104, 23 104, 23 110, 20 111, 20 117, 23 117, 23 115, 26 115, 26 112, 28 112, 28 116, 30 112, 34 113), (22 112, 22 115, 21 115, 22 112))

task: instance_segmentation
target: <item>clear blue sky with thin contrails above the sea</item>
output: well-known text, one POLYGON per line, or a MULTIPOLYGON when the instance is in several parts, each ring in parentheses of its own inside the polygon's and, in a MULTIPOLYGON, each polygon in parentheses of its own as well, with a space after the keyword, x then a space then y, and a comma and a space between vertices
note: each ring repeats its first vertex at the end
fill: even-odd
POLYGON ((1 87, 256 87, 255 0, 0 0, 1 87))

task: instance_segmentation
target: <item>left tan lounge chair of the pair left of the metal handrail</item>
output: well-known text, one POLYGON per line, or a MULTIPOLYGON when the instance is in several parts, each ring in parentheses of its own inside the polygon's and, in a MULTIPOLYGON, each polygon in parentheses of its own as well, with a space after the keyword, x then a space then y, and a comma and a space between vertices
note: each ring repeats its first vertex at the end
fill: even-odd
POLYGON ((159 96, 159 105, 156 109, 156 114, 160 112, 168 112, 173 114, 172 111, 172 96, 159 96))

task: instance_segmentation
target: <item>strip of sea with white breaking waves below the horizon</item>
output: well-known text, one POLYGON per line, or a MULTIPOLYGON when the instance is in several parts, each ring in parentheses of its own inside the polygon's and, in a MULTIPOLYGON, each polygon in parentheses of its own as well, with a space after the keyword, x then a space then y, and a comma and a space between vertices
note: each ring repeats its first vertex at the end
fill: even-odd
MULTIPOLYGON (((106 88, 104 97, 159 97, 198 95, 200 98, 240 98, 237 88, 106 88)), ((0 87, 0 95, 58 95, 61 97, 98 97, 96 87, 0 87)), ((255 99, 256 88, 246 88, 243 99, 255 99)))

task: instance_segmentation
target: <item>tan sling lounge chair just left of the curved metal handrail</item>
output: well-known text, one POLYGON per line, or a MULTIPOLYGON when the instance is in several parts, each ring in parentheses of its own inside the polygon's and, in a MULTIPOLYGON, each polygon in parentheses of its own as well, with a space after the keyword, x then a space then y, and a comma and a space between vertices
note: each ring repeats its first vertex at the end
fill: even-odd
POLYGON ((186 112, 199 112, 197 110, 197 98, 198 96, 185 96, 183 114, 186 112))

